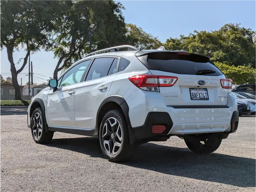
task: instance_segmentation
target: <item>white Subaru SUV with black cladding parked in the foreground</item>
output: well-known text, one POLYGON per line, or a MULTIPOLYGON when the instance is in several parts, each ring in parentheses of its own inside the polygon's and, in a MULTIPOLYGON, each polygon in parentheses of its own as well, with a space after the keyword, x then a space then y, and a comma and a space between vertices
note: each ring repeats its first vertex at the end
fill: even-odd
POLYGON ((194 153, 212 153, 238 127, 231 88, 206 56, 117 46, 51 79, 28 107, 28 127, 36 143, 50 142, 54 132, 98 137, 111 161, 171 136, 194 153))

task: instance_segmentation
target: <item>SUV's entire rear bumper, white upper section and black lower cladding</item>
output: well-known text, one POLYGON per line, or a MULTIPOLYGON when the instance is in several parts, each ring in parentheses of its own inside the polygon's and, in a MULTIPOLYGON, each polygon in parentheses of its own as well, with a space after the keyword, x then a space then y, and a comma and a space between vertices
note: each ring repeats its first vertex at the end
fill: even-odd
POLYGON ((214 107, 166 106, 159 93, 143 91, 137 91, 126 102, 129 108, 130 132, 133 132, 130 137, 135 141, 166 140, 172 135, 229 134, 237 129, 232 129, 231 122, 237 122, 238 125, 237 101, 231 94, 228 95, 226 106, 214 107), (153 134, 153 125, 167 126, 163 133, 153 134))

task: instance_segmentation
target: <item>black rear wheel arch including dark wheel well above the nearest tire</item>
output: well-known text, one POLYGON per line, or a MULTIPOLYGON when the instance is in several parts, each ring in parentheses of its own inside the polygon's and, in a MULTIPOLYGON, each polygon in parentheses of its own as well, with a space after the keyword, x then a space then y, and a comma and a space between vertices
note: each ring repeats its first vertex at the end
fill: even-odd
POLYGON ((135 134, 133 132, 130 118, 129 118, 129 107, 121 96, 110 96, 107 97, 100 105, 97 111, 97 117, 96 117, 96 128, 100 128, 101 121, 104 117, 104 115, 111 110, 122 110, 124 118, 126 119, 128 132, 129 132, 129 140, 130 144, 132 145, 135 142, 135 134))

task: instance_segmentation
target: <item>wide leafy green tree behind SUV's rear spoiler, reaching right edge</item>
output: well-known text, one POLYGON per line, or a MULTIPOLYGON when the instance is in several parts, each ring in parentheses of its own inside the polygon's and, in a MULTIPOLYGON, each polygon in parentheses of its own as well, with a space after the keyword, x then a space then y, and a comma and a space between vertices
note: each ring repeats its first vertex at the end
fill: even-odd
POLYGON ((229 23, 217 31, 194 31, 187 37, 170 38, 165 42, 168 50, 185 50, 191 53, 208 55, 214 62, 228 65, 250 65, 255 68, 255 45, 250 28, 229 23))

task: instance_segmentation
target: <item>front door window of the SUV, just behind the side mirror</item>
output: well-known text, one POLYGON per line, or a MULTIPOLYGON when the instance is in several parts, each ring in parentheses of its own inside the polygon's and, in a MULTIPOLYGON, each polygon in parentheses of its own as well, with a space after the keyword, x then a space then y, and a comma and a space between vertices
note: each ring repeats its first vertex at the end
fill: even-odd
POLYGON ((82 81, 82 76, 85 73, 90 60, 81 62, 71 68, 68 72, 63 75, 60 87, 73 85, 82 81))

